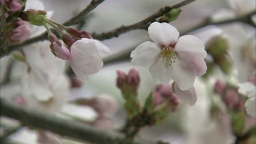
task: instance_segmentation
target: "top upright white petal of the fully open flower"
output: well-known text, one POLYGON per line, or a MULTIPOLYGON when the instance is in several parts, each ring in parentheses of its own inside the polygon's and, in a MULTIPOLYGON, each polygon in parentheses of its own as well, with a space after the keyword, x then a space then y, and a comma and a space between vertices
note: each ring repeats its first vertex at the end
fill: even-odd
POLYGON ((175 44, 180 36, 178 30, 166 22, 153 22, 150 24, 148 27, 148 35, 153 42, 164 46, 175 44))

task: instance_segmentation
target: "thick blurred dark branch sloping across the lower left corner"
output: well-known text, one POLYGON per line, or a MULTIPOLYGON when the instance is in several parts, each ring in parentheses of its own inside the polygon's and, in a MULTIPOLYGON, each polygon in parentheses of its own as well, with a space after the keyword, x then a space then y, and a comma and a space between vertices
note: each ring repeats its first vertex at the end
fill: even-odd
MULTIPOLYGON (((25 125, 32 125, 50 130, 61 136, 67 136, 97 144, 123 144, 125 136, 119 133, 99 130, 78 122, 66 120, 44 112, 12 104, 5 99, 0 100, 0 114, 20 120, 25 125)), ((134 140, 129 144, 150 144, 134 140)))

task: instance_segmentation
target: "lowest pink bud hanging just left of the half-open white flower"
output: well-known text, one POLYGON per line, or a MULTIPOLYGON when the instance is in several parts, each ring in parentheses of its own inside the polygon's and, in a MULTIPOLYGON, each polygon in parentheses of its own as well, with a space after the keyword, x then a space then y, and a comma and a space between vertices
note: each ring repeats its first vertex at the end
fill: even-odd
POLYGON ((50 48, 52 53, 62 60, 68 60, 70 58, 70 51, 60 41, 52 42, 50 48))

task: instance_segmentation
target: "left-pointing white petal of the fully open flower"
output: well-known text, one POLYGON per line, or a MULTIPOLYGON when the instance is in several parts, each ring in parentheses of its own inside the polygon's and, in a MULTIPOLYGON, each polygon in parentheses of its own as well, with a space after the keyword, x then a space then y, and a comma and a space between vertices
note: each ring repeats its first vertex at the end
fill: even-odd
POLYGON ((154 42, 143 42, 131 52, 132 65, 150 66, 159 58, 161 48, 154 42))

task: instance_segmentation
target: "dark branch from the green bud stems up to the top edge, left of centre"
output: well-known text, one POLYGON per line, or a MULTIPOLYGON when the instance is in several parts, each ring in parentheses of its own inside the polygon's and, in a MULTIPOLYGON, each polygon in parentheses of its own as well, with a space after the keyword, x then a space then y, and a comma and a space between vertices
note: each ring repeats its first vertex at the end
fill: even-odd
POLYGON ((94 8, 96 8, 98 5, 100 5, 105 0, 92 0, 88 6, 84 10, 82 10, 78 15, 74 16, 70 20, 67 20, 63 23, 64 26, 72 26, 75 24, 78 24, 86 14, 88 14, 90 11, 92 11, 94 8))

